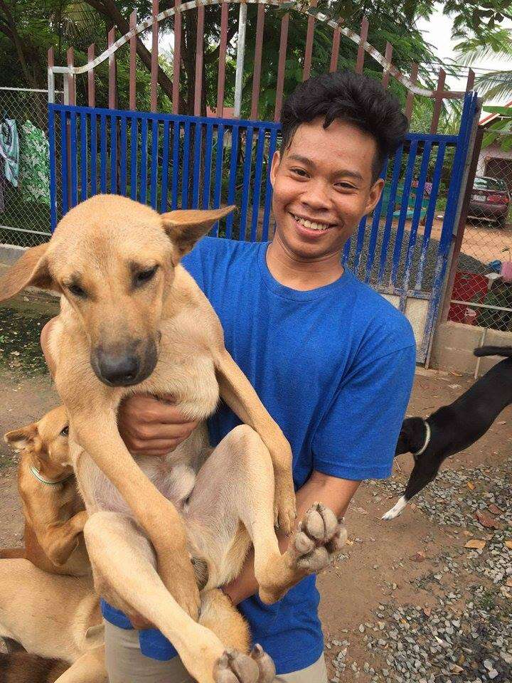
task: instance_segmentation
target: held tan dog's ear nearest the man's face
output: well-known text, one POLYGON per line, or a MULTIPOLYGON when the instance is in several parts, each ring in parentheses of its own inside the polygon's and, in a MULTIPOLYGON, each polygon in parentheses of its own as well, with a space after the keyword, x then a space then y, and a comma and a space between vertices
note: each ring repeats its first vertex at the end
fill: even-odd
POLYGON ((171 238, 175 249, 175 264, 191 249, 196 242, 206 235, 214 223, 228 216, 235 206, 213 208, 207 211, 191 209, 190 211, 169 211, 162 213, 164 230, 171 238))

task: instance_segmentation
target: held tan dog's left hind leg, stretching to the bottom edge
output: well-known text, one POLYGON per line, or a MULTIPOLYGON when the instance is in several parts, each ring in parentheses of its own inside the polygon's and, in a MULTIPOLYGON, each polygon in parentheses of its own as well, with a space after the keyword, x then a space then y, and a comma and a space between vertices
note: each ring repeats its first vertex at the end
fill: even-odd
MULTIPOLYGON (((141 615, 159 628, 198 683, 222 683, 223 643, 193 621, 166 590, 156 572, 151 545, 134 521, 114 512, 97 512, 85 524, 84 534, 99 592, 128 615, 141 615)), ((238 675, 232 680, 257 683, 256 662, 240 652, 228 654, 228 671, 238 675)))

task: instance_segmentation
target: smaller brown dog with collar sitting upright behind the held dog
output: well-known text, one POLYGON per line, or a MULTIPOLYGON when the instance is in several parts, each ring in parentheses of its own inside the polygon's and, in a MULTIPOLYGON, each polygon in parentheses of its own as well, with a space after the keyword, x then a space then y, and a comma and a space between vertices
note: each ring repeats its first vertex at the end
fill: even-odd
POLYGON ((4 440, 21 452, 18 491, 25 516, 25 548, 0 550, 0 558, 24 557, 54 574, 90 574, 82 533, 87 512, 69 462, 64 406, 7 432, 4 440))

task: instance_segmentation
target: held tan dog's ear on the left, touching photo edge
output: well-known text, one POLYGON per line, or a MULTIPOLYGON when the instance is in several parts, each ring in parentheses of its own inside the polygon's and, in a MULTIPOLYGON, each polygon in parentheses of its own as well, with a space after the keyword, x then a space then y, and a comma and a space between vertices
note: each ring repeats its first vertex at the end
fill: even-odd
POLYGON ((27 249, 16 263, 0 277, 0 301, 6 301, 25 287, 41 287, 42 290, 58 290, 48 269, 46 252, 49 243, 27 249))

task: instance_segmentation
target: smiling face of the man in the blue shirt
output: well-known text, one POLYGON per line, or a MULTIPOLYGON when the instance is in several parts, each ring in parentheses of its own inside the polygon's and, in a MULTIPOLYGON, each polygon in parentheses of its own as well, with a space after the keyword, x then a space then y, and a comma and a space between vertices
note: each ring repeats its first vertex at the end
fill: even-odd
POLYGON ((323 122, 301 124, 288 149, 272 159, 276 235, 299 260, 341 252, 384 184, 372 180, 373 137, 348 122, 335 120, 326 129, 323 122))

